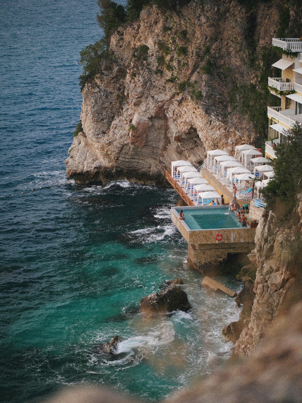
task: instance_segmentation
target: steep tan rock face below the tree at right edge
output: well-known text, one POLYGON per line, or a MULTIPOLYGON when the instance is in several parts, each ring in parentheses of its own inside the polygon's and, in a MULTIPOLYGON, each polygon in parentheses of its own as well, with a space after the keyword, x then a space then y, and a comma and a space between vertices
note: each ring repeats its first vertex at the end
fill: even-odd
POLYGON ((256 268, 255 298, 250 318, 236 342, 238 355, 248 355, 267 328, 302 299, 301 241, 301 201, 286 219, 278 219, 272 211, 261 218, 256 247, 249 255, 251 266, 256 268))

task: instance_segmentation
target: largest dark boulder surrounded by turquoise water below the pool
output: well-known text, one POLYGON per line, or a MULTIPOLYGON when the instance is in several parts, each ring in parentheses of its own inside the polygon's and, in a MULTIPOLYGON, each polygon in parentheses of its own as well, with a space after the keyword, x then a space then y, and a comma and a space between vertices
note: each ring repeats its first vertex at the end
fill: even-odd
POLYGON ((176 310, 188 311, 191 305, 186 293, 176 285, 169 285, 160 293, 153 293, 141 299, 141 312, 163 314, 176 310))

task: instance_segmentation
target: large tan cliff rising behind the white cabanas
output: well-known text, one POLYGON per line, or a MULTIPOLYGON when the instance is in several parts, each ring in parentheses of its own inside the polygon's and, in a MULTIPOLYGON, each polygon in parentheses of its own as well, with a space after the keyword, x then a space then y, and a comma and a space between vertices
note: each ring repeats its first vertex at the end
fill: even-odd
POLYGON ((202 3, 146 8, 112 35, 102 73, 82 92, 83 132, 69 149, 68 177, 160 183, 173 160, 198 166, 206 150, 255 141, 233 89, 257 83, 250 54, 271 46, 277 6, 202 3))

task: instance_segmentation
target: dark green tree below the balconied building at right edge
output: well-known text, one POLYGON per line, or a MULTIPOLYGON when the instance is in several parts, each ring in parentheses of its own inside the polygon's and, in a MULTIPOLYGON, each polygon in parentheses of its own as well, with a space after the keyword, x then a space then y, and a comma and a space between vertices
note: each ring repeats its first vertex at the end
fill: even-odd
POLYGON ((263 189, 267 208, 274 210, 281 205, 283 212, 292 210, 302 191, 302 125, 296 123, 286 134, 285 141, 275 149, 275 176, 263 189))

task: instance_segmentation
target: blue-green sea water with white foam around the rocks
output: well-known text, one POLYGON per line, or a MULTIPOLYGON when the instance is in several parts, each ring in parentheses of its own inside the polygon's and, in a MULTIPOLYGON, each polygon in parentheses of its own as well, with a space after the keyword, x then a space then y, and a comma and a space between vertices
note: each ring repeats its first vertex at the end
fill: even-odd
POLYGON ((81 108, 79 51, 101 36, 95 3, 0 5, 2 402, 78 383, 156 401, 219 369, 232 348, 221 328, 239 311, 189 270, 170 220, 175 191, 66 178, 81 108), (192 310, 143 318, 140 299, 176 277, 192 310), (100 345, 116 334, 114 360, 100 345))

